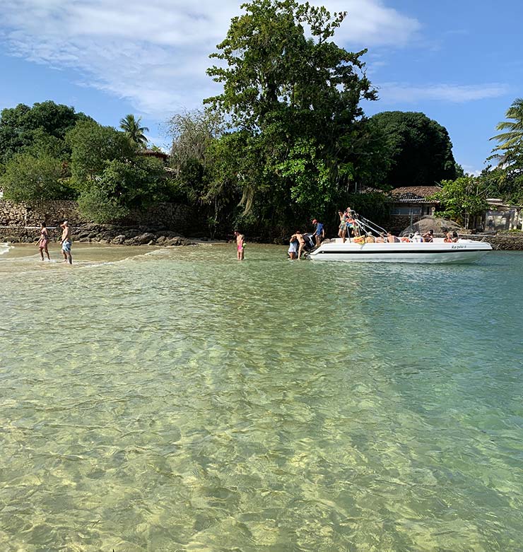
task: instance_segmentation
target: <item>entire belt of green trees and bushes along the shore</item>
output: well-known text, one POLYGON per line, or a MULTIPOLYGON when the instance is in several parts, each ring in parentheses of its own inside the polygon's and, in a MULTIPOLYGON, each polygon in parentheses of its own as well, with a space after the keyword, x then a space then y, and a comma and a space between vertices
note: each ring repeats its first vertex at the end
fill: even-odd
POLYGON ((231 20, 208 75, 223 87, 175 114, 169 166, 145 157, 146 127, 128 114, 102 127, 52 101, 0 117, 0 187, 13 201, 78 197, 81 211, 116 221, 156 201, 195 206, 211 234, 235 226, 264 237, 328 231, 346 206, 387 223, 393 187, 442 182, 442 213, 466 223, 487 197, 523 201, 523 100, 493 139, 498 167, 467 177, 447 130, 416 112, 367 118, 377 95, 361 52, 334 43, 346 13, 297 0, 252 0, 231 20))

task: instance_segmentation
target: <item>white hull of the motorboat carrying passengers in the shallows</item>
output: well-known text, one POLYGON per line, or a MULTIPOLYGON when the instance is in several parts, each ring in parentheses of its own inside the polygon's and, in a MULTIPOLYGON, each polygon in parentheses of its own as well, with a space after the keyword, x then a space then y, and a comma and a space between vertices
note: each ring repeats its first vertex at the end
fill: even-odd
POLYGON ((394 263, 469 263, 492 251, 487 242, 458 240, 433 242, 355 243, 341 238, 327 240, 310 252, 315 261, 394 262, 394 263))

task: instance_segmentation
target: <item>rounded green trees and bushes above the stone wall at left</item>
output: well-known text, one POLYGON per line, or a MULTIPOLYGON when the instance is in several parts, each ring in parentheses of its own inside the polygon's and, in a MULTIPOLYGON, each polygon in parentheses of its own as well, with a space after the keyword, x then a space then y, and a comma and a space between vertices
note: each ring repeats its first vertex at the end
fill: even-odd
MULTIPOLYGON (((143 130, 139 119, 126 120, 143 130)), ((141 157, 135 138, 54 102, 3 110, 0 187, 6 199, 28 204, 77 197, 93 221, 117 221, 172 197, 162 161, 141 157)))

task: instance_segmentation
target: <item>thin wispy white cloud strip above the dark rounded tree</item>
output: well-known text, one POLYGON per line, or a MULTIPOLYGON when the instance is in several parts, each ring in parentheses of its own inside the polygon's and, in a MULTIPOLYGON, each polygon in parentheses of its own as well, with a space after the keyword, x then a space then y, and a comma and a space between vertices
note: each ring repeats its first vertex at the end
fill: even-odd
POLYGON ((389 104, 415 104, 425 100, 453 103, 498 98, 509 92, 502 83, 486 84, 427 84, 411 86, 403 83, 384 83, 379 86, 380 100, 389 104))

